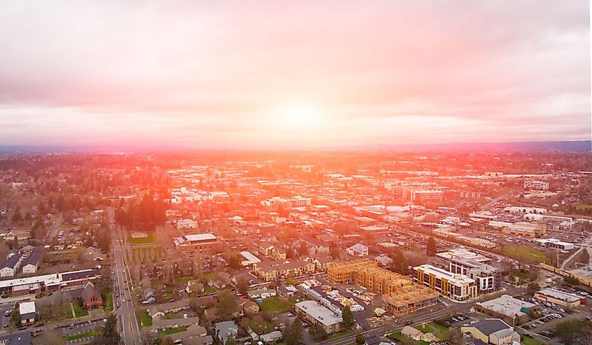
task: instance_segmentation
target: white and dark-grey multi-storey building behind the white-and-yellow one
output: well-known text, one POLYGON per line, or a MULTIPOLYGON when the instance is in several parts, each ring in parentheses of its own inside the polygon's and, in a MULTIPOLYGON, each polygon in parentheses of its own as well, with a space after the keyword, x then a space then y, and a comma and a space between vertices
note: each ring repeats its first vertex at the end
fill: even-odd
POLYGON ((474 279, 477 293, 491 293, 502 288, 502 269, 492 265, 453 256, 449 259, 448 269, 474 279))

